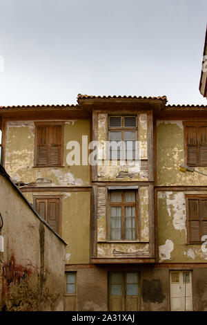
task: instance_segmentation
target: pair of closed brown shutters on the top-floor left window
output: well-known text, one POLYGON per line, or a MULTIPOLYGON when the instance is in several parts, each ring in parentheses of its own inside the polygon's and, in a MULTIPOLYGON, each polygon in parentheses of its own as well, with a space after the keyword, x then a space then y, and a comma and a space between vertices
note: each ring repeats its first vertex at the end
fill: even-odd
POLYGON ((52 167, 62 165, 63 125, 37 124, 36 125, 36 154, 35 165, 38 167, 52 167))

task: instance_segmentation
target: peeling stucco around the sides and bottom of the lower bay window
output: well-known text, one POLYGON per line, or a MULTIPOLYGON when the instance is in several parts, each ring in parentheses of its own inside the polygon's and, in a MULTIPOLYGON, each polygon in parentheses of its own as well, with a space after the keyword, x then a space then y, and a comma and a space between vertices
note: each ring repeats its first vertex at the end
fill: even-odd
POLYGON ((149 202, 148 187, 139 187, 139 239, 137 243, 107 243, 107 187, 97 188, 97 257, 148 256, 149 254, 149 202))

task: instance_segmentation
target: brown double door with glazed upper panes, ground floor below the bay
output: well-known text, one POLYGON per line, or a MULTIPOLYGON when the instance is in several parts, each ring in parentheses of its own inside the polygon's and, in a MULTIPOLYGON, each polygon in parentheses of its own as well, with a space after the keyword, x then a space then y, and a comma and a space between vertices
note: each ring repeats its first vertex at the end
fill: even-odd
POLYGON ((139 272, 110 272, 109 310, 139 310, 139 272))

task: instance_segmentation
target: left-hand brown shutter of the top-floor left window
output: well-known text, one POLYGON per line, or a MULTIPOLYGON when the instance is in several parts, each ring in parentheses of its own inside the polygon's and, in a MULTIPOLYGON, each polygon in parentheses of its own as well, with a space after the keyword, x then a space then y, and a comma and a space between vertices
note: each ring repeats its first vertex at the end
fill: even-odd
POLYGON ((38 145, 37 145, 37 165, 46 166, 48 165, 48 154, 49 148, 47 144, 48 128, 39 126, 37 129, 38 134, 38 145))

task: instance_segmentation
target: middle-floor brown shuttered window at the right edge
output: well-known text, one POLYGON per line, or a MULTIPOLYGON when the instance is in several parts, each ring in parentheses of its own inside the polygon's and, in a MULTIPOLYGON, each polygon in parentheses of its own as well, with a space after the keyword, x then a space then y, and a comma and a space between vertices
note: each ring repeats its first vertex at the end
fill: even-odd
POLYGON ((186 195, 188 243, 201 243, 207 235, 207 195, 186 195))

